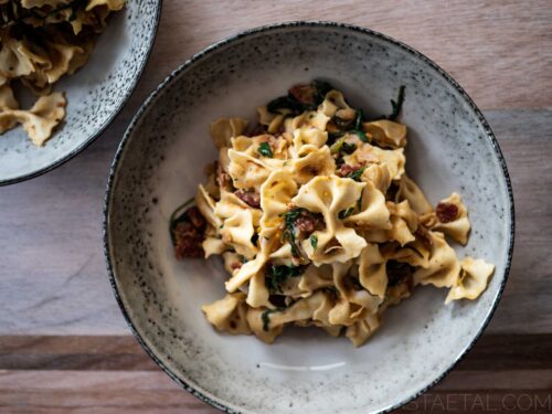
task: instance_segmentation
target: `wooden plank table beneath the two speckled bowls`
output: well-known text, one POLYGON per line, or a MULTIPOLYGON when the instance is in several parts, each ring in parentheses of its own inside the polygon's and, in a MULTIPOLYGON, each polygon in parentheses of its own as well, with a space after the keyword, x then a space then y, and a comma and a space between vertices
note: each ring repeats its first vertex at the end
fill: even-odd
POLYGON ((166 75, 216 40, 285 20, 364 25, 422 51, 480 106, 508 161, 506 295, 468 357, 404 412, 552 411, 552 1, 164 0, 146 73, 106 132, 0 189, 0 413, 214 411, 157 369, 123 320, 102 252, 104 189, 130 117, 166 75))

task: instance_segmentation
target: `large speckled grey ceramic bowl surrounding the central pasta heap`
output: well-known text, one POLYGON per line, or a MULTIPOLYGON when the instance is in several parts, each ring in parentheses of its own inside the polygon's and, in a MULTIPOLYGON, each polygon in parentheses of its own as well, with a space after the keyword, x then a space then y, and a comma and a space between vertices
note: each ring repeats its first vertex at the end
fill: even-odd
POLYGON ((144 104, 119 147, 106 194, 105 250, 115 295, 140 343, 185 390, 227 412, 389 411, 439 381, 489 321, 513 243, 513 202, 498 144, 481 113, 443 70, 365 29, 287 23, 255 29, 185 62, 144 104), (459 256, 496 264, 477 301, 444 305, 417 288, 384 315, 362 348, 316 329, 289 329, 267 346, 217 333, 200 306, 224 295, 217 259, 177 262, 171 212, 195 193, 216 152, 209 123, 254 118, 291 84, 321 77, 372 115, 406 85, 407 170, 432 201, 459 191, 473 234, 459 256))

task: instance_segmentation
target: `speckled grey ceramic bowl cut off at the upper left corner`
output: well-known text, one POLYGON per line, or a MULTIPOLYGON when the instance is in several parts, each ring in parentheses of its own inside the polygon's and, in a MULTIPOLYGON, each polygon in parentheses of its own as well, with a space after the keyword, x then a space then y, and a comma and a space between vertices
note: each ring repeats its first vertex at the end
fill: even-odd
POLYGON ((127 0, 110 17, 88 63, 55 84, 55 91, 66 93, 67 115, 44 147, 35 147, 20 126, 0 136, 0 185, 59 167, 109 125, 146 66, 160 12, 161 0, 127 0))

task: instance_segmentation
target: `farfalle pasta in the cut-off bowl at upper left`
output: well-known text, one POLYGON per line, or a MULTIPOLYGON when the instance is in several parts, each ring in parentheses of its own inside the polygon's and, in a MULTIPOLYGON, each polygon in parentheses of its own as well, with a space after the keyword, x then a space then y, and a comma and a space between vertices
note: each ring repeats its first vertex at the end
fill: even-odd
POLYGON ((0 134, 21 124, 39 147, 65 118, 64 94, 52 86, 86 64, 112 11, 125 0, 0 1, 0 134), (39 96, 21 109, 20 83, 39 96))

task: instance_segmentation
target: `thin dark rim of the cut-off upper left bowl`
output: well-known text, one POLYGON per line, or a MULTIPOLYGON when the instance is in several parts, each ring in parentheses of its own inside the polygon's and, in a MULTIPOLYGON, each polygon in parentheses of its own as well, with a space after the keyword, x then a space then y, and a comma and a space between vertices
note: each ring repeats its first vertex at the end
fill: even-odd
MULTIPOLYGON (((128 99, 130 98, 130 96, 135 92, 136 85, 138 85, 138 81, 140 81, 141 75, 144 74, 144 71, 145 71, 147 63, 149 61, 149 56, 151 55, 151 51, 153 49, 153 43, 155 43, 156 36, 157 36, 157 30, 159 29, 159 20, 161 19, 162 3, 163 3, 163 0, 157 1, 156 20, 153 23, 155 24, 153 31, 151 32, 151 34, 152 34, 151 42, 149 42, 148 50, 146 51, 145 59, 144 59, 142 63, 140 64, 138 73, 136 74, 135 78, 130 82, 130 87, 128 88, 126 95, 123 97, 119 105, 115 108, 115 110, 112 113, 112 115, 109 115, 109 117, 105 120, 105 123, 95 132, 93 132, 88 138, 86 138, 86 140, 84 142, 82 142, 78 147, 76 147, 71 152, 66 153, 65 156, 63 156, 62 158, 60 158, 55 162, 53 162, 50 166, 46 166, 44 168, 41 168, 36 171, 33 171, 33 172, 29 172, 29 173, 25 173, 25 174, 22 174, 19 177, 14 177, 14 178, 10 178, 7 180, 0 180, 0 187, 10 185, 10 184, 14 184, 18 182, 31 180, 31 179, 40 177, 46 172, 50 172, 50 171, 56 169, 57 167, 63 166, 65 162, 73 159, 78 153, 81 153, 83 150, 85 150, 92 142, 94 142, 96 140, 96 138, 98 138, 102 135, 102 132, 104 132, 107 129, 107 127, 115 120, 117 115, 119 115, 119 113, 125 107, 125 104, 128 102, 128 99)), ((52 138, 55 138, 55 136, 52 138)))

